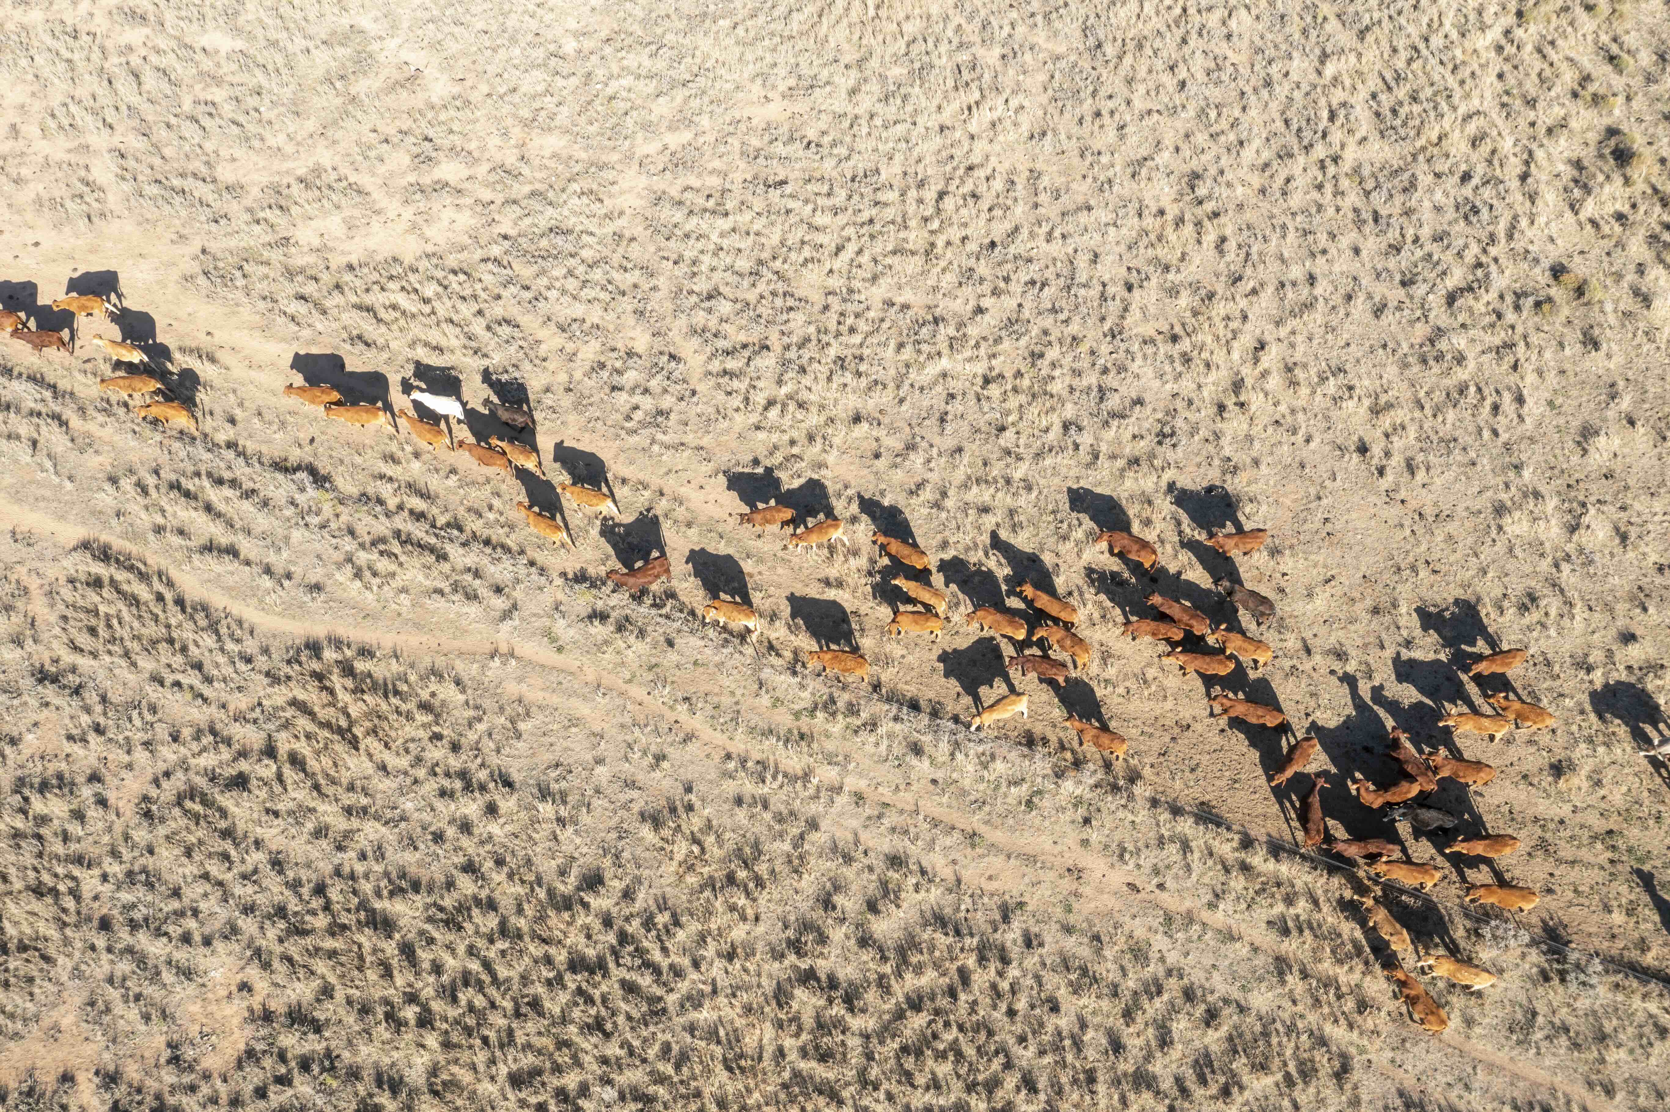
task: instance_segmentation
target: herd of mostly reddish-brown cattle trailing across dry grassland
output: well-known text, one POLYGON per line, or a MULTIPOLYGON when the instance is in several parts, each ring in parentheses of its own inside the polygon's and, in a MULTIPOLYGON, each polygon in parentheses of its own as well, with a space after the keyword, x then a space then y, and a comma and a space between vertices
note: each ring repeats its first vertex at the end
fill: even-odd
MULTIPOLYGON (((94 294, 53 301, 52 309, 70 311, 77 319, 95 317, 105 321, 115 319, 120 312, 115 301, 94 294)), ((28 344, 37 354, 47 351, 72 352, 62 332, 28 329, 25 327, 27 324, 28 321, 23 312, 0 311, 0 331, 8 332, 15 341, 28 344)), ((102 379, 99 382, 100 391, 114 391, 139 399, 149 397, 150 401, 144 401, 135 409, 140 419, 157 421, 164 426, 179 422, 194 431, 197 429, 197 419, 190 409, 179 401, 165 397, 169 387, 159 377, 165 372, 164 367, 155 366, 134 344, 102 337, 94 337, 94 342, 115 364, 139 366, 145 371, 102 379)), ((379 401, 349 401, 332 386, 286 386, 284 396, 319 407, 326 417, 357 426, 386 426, 399 436, 396 414, 391 414, 379 401)), ((461 442, 453 424, 454 421, 466 422, 466 411, 459 399, 424 392, 414 392, 409 399, 434 419, 419 417, 411 409, 401 409, 397 417, 412 436, 431 449, 461 451, 478 464, 503 471, 506 476, 514 476, 516 471, 523 469, 543 478, 544 468, 538 449, 516 439, 534 429, 534 416, 528 409, 496 401, 488 402, 488 412, 508 429, 508 434, 503 437, 488 437, 486 444, 461 442)), ((620 516, 615 498, 603 489, 561 483, 556 484, 556 491, 578 508, 608 514, 610 518, 620 516)), ((549 539, 553 544, 574 548, 568 528, 554 514, 526 501, 518 501, 516 511, 526 519, 528 528, 539 536, 549 539)), ((827 516, 822 521, 800 521, 797 519, 797 513, 788 506, 758 506, 740 513, 736 521, 740 526, 755 529, 788 531, 785 548, 803 553, 810 553, 818 546, 850 544, 845 536, 845 523, 838 518, 827 516)), ((890 559, 895 564, 890 568, 895 574, 887 583, 898 588, 915 604, 913 608, 893 609, 892 619, 885 628, 885 636, 925 634, 932 641, 939 641, 945 633, 947 594, 934 586, 934 563, 929 554, 908 541, 887 536, 880 531, 873 533, 870 541, 878 546, 883 561, 890 559)), ((1264 529, 1247 529, 1207 536, 1204 541, 1226 559, 1239 559, 1259 553, 1266 541, 1269 541, 1269 533, 1264 529)), ((1151 541, 1131 533, 1104 531, 1094 541, 1094 548, 1101 549, 1101 546, 1107 546, 1109 558, 1129 561, 1132 564, 1132 576, 1136 569, 1152 576, 1161 559, 1159 549, 1151 541)), ((640 591, 665 578, 671 578, 671 564, 668 563, 665 548, 660 556, 636 568, 621 568, 608 573, 610 581, 628 591, 640 591)), ((1274 603, 1258 591, 1231 579, 1219 579, 1214 586, 1236 614, 1251 616, 1261 628, 1276 616, 1274 603)), ((1082 636, 1079 609, 1072 603, 1055 598, 1032 583, 1020 583, 1015 588, 1015 594, 1024 603, 1019 613, 1009 609, 1007 604, 979 606, 964 618, 964 629, 990 631, 997 638, 1007 639, 1014 655, 1004 658, 1005 673, 1022 678, 1032 676, 1039 683, 1055 685, 1057 693, 1060 693, 1069 675, 1086 673, 1092 660, 1092 646, 1082 636), (1032 648, 1030 653, 1025 651, 1029 644, 1032 648), (1060 658, 1057 658, 1057 653, 1060 658)), ((1204 613, 1179 599, 1151 593, 1144 601, 1152 608, 1154 616, 1126 621, 1119 631, 1132 641, 1159 643, 1166 650, 1159 660, 1176 665, 1182 673, 1194 671, 1202 676, 1226 676, 1244 665, 1247 668, 1259 668, 1263 675, 1263 670, 1276 658, 1276 651, 1269 643, 1229 628, 1226 623, 1214 623, 1204 613)), ((716 621, 736 626, 750 639, 760 634, 760 616, 752 606, 738 601, 715 598, 701 609, 701 619, 705 623, 716 621)), ((857 648, 853 644, 853 650, 857 648)), ((867 681, 870 676, 870 661, 860 651, 825 648, 808 651, 805 658, 808 665, 818 665, 825 673, 833 673, 840 678, 850 675, 860 681, 867 681)), ((1475 661, 1468 675, 1475 678, 1503 675, 1525 663, 1525 650, 1493 653, 1475 661)), ((1010 681, 1010 688, 1014 688, 1014 681, 1010 681)), ((1304 775, 1306 765, 1319 748, 1318 740, 1314 736, 1294 738, 1288 715, 1278 706, 1219 693, 1212 686, 1207 688, 1207 713, 1246 721, 1259 730, 1279 731, 1278 736, 1291 738, 1291 745, 1286 746, 1279 765, 1269 775, 1271 788, 1283 788, 1293 776, 1304 775)), ((1490 695, 1485 701, 1495 706, 1495 715, 1456 713, 1440 720, 1440 725, 1451 731, 1451 746, 1455 745, 1455 738, 1466 733, 1496 738, 1515 728, 1535 730, 1550 726, 1555 721, 1555 716, 1541 706, 1503 695, 1490 695)), ((1027 718, 1027 693, 1014 691, 984 708, 977 706, 969 728, 980 730, 1014 715, 1027 718)), ((1106 728, 1106 725, 1084 721, 1072 715, 1067 715, 1065 725, 1077 735, 1080 746, 1101 751, 1109 760, 1124 760, 1129 743, 1122 735, 1106 728)), ((1495 776, 1495 770, 1490 765, 1461 760, 1460 756, 1440 751, 1418 750, 1401 730, 1393 730, 1389 740, 1388 755, 1403 770, 1403 776, 1388 786, 1376 786, 1361 775, 1356 775, 1346 786, 1363 806, 1371 810, 1386 808, 1386 815, 1408 821, 1420 833, 1441 835, 1460 821, 1455 815, 1421 801, 1423 796, 1438 788, 1440 780, 1450 778, 1468 788, 1478 788, 1490 783, 1495 776)), ((1358 872, 1353 880, 1356 902, 1363 908, 1368 927, 1384 940, 1389 952, 1383 957, 1386 975, 1394 982, 1416 1022, 1428 1032, 1441 1032, 1448 1025, 1448 1018, 1421 987, 1420 980, 1398 963, 1396 955, 1399 952, 1414 952, 1416 958, 1420 958, 1414 965, 1416 968, 1450 978, 1471 992, 1485 988, 1496 977, 1455 957, 1420 955, 1408 930, 1378 898, 1381 895, 1379 885, 1384 880, 1391 880, 1398 885, 1425 892, 1438 883, 1440 870, 1430 863, 1408 860, 1401 842, 1386 838, 1334 838, 1328 828, 1321 798, 1326 785, 1326 773, 1309 773, 1309 790, 1298 798, 1296 810, 1303 830, 1301 842, 1306 850, 1328 852, 1356 867, 1358 872)), ((1498 860, 1513 853, 1518 847, 1520 840, 1506 835, 1456 835, 1443 847, 1443 852, 1453 855, 1458 872, 1468 863, 1485 860, 1490 862, 1490 868, 1496 873, 1495 880, 1498 883, 1466 887, 1465 898, 1468 902, 1491 903, 1508 912, 1525 912, 1536 905, 1538 893, 1531 888, 1500 883, 1503 877, 1496 865, 1498 860)))

